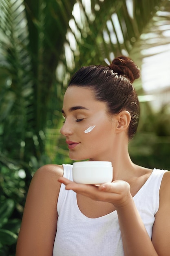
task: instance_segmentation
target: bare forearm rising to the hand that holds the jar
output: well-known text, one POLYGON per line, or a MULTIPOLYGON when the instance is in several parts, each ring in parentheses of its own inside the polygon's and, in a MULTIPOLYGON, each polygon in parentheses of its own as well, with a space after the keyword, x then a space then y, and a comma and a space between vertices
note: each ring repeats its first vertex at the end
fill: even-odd
POLYGON ((158 256, 132 198, 117 214, 125 256, 158 256))

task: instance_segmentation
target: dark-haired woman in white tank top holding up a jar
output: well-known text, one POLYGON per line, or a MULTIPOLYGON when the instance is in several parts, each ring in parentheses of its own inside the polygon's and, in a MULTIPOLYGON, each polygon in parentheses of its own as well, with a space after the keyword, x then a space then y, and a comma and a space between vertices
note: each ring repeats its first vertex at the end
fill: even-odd
POLYGON ((112 162, 113 182, 77 184, 71 165, 41 167, 27 195, 16 256, 170 254, 170 173, 137 166, 128 153, 139 121, 132 86, 138 77, 124 56, 75 73, 62 109, 69 157, 112 162))

